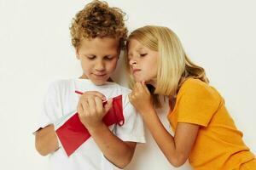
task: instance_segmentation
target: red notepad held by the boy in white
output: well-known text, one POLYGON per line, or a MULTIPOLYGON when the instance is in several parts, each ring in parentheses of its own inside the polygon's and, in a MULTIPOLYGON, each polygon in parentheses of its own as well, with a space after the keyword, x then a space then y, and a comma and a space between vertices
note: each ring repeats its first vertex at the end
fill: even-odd
MULTIPOLYGON (((113 124, 122 126, 125 123, 122 95, 113 98, 112 108, 110 108, 108 113, 103 117, 102 121, 107 126, 111 126, 113 124)), ((67 156, 73 154, 81 144, 90 138, 90 133, 86 127, 84 127, 83 123, 80 122, 78 113, 75 113, 67 120, 67 122, 57 128, 55 133, 60 139, 67 156)))

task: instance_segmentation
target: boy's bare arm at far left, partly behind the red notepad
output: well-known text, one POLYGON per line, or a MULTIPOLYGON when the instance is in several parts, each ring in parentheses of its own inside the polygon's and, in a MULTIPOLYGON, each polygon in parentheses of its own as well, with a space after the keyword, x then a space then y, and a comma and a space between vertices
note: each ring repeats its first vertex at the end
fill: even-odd
POLYGON ((47 127, 39 129, 35 133, 35 137, 36 149, 40 155, 47 156, 49 153, 58 150, 59 144, 54 125, 51 124, 47 127))

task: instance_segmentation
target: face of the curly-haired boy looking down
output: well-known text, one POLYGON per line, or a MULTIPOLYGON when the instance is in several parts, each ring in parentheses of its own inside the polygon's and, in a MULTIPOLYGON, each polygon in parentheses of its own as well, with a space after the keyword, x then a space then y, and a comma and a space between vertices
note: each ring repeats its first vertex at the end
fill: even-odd
POLYGON ((83 38, 76 50, 81 61, 83 78, 96 85, 108 81, 119 59, 119 40, 111 37, 83 38))

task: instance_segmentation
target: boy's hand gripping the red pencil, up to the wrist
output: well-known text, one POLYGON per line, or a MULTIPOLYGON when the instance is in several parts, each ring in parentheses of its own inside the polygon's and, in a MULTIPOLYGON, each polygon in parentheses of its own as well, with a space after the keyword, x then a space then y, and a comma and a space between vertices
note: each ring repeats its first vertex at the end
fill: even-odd
MULTIPOLYGON (((98 93, 98 92, 97 92, 98 93)), ((84 93, 79 99, 78 113, 79 119, 88 129, 99 127, 102 123, 103 116, 112 107, 112 99, 107 101, 106 105, 102 104, 102 95, 100 93, 84 93)))

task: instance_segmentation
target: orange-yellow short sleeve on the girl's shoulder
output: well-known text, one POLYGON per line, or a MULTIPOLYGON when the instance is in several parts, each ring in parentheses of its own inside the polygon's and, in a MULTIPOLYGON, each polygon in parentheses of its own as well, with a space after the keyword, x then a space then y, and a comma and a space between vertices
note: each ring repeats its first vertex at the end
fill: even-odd
POLYGON ((207 127, 220 105, 218 92, 205 82, 186 82, 177 99, 177 122, 207 127))

